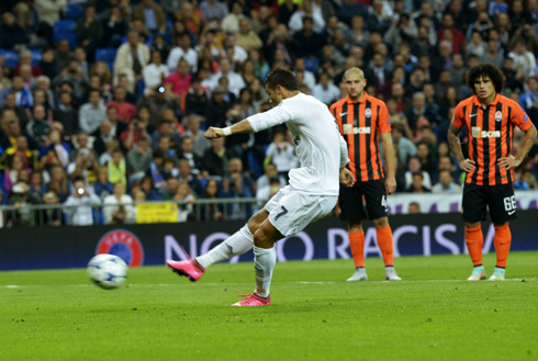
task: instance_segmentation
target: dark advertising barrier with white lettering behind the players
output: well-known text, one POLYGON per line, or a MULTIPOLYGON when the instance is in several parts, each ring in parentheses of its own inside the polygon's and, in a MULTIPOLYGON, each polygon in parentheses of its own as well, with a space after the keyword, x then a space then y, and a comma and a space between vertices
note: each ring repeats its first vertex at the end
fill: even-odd
MULTIPOLYGON (((512 249, 538 249, 538 211, 519 212, 511 223, 512 249)), ((459 214, 390 217, 395 256, 467 252, 459 214)), ((98 252, 121 256, 131 266, 164 264, 211 249, 243 222, 0 229, 0 270, 80 268, 98 252)), ((366 224, 366 255, 379 257, 376 229, 366 224)), ((483 224, 484 252, 494 251, 493 225, 483 224)), ((329 217, 277 244, 279 261, 350 258, 346 224, 329 217)), ((251 252, 232 262, 251 260, 251 252)))

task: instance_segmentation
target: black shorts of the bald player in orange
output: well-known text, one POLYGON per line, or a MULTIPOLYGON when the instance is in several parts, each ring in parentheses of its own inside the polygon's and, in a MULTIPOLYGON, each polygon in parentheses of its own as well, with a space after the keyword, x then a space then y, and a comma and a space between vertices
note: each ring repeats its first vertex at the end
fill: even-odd
POLYGON ((341 185, 338 204, 341 211, 340 218, 344 221, 357 222, 366 218, 386 217, 388 204, 384 180, 357 182, 351 188, 341 185), (365 196, 368 213, 365 211, 362 196, 365 196))

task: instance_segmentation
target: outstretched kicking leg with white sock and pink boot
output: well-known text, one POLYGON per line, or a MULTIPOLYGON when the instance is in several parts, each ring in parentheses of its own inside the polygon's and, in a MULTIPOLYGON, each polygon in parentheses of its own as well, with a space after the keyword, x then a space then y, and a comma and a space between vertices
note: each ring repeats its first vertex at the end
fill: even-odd
POLYGON ((218 246, 212 248, 209 252, 187 261, 167 260, 166 264, 177 274, 184 275, 190 281, 195 282, 211 266, 250 250, 254 246, 253 233, 250 229, 258 228, 267 216, 267 211, 261 210, 253 215, 245 226, 218 246))

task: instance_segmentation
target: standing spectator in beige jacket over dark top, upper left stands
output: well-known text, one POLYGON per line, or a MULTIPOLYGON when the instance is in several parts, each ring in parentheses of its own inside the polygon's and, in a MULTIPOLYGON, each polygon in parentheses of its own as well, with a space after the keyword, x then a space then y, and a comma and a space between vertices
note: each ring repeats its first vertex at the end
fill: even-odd
POLYGON ((142 78, 142 70, 148 63, 149 48, 141 42, 135 30, 130 30, 127 43, 117 48, 114 60, 114 83, 120 80, 121 75, 126 75, 130 90, 133 91, 135 82, 142 78))

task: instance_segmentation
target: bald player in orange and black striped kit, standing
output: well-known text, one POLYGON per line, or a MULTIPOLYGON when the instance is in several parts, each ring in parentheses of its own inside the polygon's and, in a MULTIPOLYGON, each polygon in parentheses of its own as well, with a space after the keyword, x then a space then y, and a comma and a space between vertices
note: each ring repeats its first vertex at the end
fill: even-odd
POLYGON ((340 187, 341 217, 348 221, 349 246, 356 271, 348 281, 368 280, 365 268, 365 232, 362 221, 373 221, 378 245, 385 263, 385 279, 400 281, 394 270, 392 230, 389 225, 386 193, 396 189, 394 178, 394 148, 391 137, 389 111, 383 101, 365 91, 365 74, 359 68, 344 75, 347 97, 330 105, 340 134, 348 145, 349 169, 355 176, 352 188, 340 187), (386 177, 379 154, 379 140, 383 144, 386 177), (366 199, 367 212, 362 206, 366 199))

